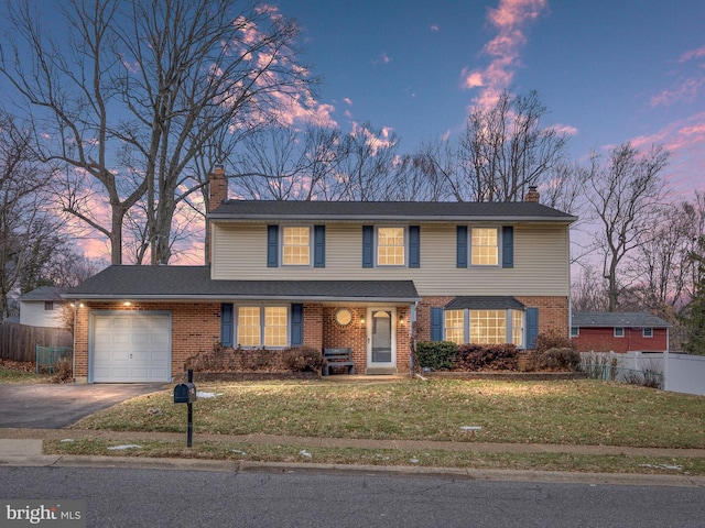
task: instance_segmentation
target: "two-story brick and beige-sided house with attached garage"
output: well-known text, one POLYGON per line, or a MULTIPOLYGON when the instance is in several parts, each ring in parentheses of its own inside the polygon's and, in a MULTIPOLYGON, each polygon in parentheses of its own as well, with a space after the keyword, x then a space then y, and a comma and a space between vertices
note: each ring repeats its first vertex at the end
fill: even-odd
POLYGON ((404 373, 412 340, 568 334, 570 224, 524 202, 227 200, 212 176, 206 266, 110 266, 72 289, 75 376, 170 381, 213 349, 350 348, 404 373))

